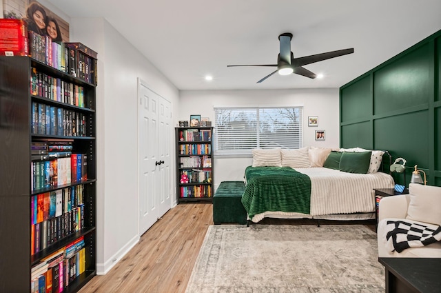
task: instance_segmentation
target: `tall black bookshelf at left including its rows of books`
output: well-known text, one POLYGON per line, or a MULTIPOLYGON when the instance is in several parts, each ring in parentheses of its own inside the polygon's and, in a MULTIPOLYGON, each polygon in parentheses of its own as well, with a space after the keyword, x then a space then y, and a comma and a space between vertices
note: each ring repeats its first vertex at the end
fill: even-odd
POLYGON ((96 275, 96 85, 24 56, 0 57, 0 75, 0 292, 32 292, 59 251, 49 270, 78 265, 63 290, 77 292, 96 275))

